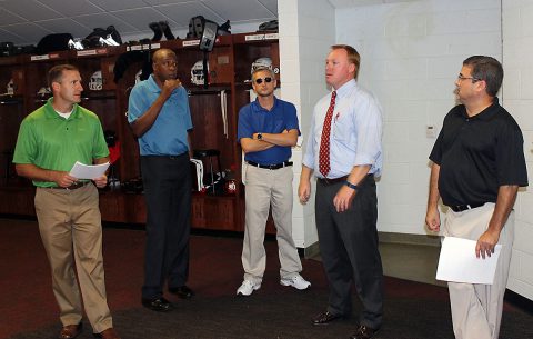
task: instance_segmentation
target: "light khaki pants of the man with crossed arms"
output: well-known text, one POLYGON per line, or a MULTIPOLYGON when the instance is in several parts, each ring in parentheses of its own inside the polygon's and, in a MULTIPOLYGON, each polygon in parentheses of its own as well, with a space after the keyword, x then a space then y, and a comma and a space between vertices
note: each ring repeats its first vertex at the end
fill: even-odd
POLYGON ((276 228, 281 278, 302 271, 302 263, 292 239, 292 167, 269 170, 245 166, 247 225, 242 246, 244 280, 261 282, 266 267, 264 232, 269 210, 276 228))

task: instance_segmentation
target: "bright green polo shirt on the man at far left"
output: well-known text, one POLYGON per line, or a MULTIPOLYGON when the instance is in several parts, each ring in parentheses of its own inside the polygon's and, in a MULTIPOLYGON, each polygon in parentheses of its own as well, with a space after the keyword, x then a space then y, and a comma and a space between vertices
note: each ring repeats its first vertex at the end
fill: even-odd
MULTIPOLYGON (((64 119, 52 107, 53 98, 22 120, 14 148, 14 163, 70 171, 76 161, 92 164, 93 159, 109 156, 100 119, 93 112, 74 104, 64 119)), ((53 187, 56 182, 34 181, 37 187, 53 187)))

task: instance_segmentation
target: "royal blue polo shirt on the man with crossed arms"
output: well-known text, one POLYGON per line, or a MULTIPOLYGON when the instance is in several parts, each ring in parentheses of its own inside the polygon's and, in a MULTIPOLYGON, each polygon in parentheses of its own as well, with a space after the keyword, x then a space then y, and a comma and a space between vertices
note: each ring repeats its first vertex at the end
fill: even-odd
MULTIPOLYGON (((284 130, 298 130, 296 108, 294 104, 274 97, 274 106, 269 111, 255 101, 244 106, 239 111, 239 127, 237 139, 252 138, 253 133, 281 133, 284 130)), ((273 164, 286 161, 291 158, 291 148, 286 146, 274 146, 259 152, 249 152, 244 160, 261 164, 273 164)))

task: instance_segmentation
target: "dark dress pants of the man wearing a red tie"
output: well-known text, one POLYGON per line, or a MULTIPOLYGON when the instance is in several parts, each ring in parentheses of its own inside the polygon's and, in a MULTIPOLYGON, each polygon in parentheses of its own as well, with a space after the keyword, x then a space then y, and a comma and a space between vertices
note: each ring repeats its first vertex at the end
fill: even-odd
POLYGON ((363 303, 360 325, 380 328, 383 318, 383 268, 378 250, 378 197, 373 176, 359 185, 352 206, 336 212, 333 198, 344 185, 316 182, 315 216, 320 253, 330 285, 328 310, 349 316, 351 286, 363 303))

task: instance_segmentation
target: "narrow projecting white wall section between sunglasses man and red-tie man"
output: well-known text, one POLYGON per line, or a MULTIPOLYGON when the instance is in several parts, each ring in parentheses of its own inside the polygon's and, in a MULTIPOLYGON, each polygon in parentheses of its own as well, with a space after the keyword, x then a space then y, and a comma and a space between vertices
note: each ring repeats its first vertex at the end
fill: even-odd
MULTIPOLYGON (((324 60, 335 39, 335 12, 328 0, 279 0, 280 68, 282 99, 296 106, 305 141, 312 109, 328 89, 324 83, 324 60)), ((314 222, 314 198, 302 206, 298 185, 302 169, 302 148, 292 151, 294 161, 293 238, 305 248, 318 241, 314 222)), ((313 186, 314 189, 314 186, 313 186)))

